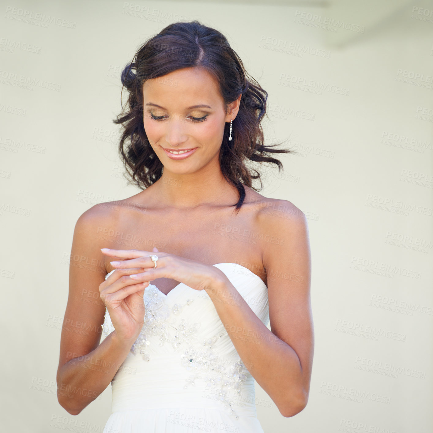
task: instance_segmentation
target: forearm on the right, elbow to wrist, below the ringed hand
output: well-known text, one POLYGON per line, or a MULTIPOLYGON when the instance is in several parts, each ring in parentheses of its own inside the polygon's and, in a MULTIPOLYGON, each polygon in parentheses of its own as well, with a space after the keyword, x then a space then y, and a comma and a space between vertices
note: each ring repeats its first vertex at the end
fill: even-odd
POLYGON ((296 352, 273 334, 230 281, 206 289, 239 357, 284 416, 304 405, 302 367, 296 352))

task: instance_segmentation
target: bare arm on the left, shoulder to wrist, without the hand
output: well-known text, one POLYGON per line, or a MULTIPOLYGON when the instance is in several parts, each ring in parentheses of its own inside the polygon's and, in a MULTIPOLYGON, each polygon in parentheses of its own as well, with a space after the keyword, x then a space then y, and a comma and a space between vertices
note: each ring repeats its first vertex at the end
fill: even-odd
POLYGON ((57 370, 58 402, 78 415, 110 384, 136 338, 120 339, 113 331, 102 343, 105 305, 99 286, 105 281, 104 256, 95 240, 97 228, 107 217, 97 206, 78 219, 72 241, 69 294, 61 331, 57 370))

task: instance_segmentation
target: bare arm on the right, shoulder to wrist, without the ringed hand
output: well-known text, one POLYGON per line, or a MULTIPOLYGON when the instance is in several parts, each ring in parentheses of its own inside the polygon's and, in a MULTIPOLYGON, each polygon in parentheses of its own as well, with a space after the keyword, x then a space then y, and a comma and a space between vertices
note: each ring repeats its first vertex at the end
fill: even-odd
POLYGON ((292 417, 307 405, 310 390, 314 346, 311 260, 304 213, 281 201, 285 211, 264 215, 260 221, 263 234, 280 240, 278 244, 268 242, 263 253, 271 331, 229 281, 223 281, 216 293, 207 293, 246 368, 280 413, 292 417))

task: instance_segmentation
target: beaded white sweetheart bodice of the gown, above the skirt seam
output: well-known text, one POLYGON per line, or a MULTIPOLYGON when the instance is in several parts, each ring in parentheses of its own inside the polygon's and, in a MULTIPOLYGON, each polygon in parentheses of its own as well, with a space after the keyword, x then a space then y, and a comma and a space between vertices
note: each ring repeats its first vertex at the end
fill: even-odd
MULTIPOLYGON (((268 290, 262 279, 236 263, 214 266, 267 326, 268 290)), ((149 284, 143 300, 142 330, 112 381, 112 412, 200 404, 224 408, 236 418, 237 413, 255 414, 254 378, 206 291, 180 283, 165 295, 149 284)), ((107 309, 102 330, 105 336, 114 330, 107 309)), ((248 330, 237 338, 253 341, 248 330)))

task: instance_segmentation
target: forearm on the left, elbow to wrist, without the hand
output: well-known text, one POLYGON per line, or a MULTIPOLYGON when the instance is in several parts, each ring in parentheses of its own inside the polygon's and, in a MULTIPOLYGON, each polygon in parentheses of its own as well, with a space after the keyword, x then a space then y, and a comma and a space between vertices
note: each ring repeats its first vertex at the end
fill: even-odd
POLYGON ((60 405, 78 415, 107 388, 133 343, 118 339, 113 331, 92 352, 66 362, 57 375, 60 405))

